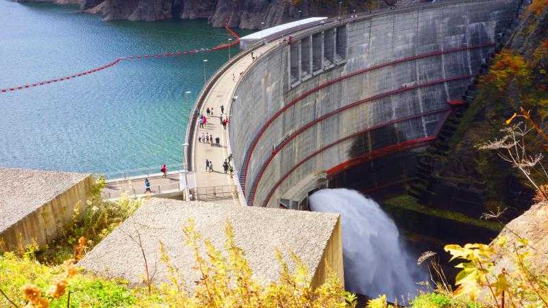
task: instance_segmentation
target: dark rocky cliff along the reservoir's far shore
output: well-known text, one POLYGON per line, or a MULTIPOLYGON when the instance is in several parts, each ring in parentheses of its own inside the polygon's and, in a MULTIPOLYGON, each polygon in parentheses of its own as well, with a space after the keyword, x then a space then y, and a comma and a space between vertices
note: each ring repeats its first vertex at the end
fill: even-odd
MULTIPOLYGON (((44 0, 15 0, 44 1, 44 0)), ((160 21, 170 18, 208 18, 214 27, 228 21, 231 27, 260 29, 295 21, 298 17, 335 16, 336 0, 45 0, 79 4, 84 12, 101 14, 105 21, 160 21), (264 23, 264 25, 262 25, 264 23)), ((390 1, 386 3, 391 3, 390 1)), ((386 5, 382 0, 347 0, 343 14, 386 5)))

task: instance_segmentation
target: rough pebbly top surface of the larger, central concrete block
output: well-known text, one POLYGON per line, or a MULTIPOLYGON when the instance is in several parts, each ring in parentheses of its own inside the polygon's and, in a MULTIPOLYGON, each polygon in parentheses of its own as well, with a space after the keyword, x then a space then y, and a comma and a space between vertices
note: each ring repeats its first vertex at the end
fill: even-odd
POLYGON ((128 236, 136 239, 140 234, 150 272, 155 272, 153 282, 166 279, 166 267, 160 262, 158 252, 162 241, 191 290, 198 275, 192 270, 195 258, 184 244, 182 234, 182 226, 188 218, 195 220, 197 230, 210 238, 216 247, 223 247, 223 229, 227 219, 230 220, 236 244, 245 251, 253 273, 259 279, 271 281, 279 274, 275 248, 282 251, 286 259, 289 251, 297 253, 314 274, 338 214, 151 198, 79 264, 106 277, 123 277, 133 284, 142 283, 144 261, 138 244, 128 236))

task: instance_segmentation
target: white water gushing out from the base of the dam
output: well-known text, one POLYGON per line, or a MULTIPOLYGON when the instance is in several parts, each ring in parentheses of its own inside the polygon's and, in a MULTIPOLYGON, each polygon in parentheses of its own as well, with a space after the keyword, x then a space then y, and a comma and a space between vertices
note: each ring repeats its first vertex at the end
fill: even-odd
POLYGON ((394 222, 372 199, 356 190, 326 189, 310 196, 313 211, 341 215, 345 288, 401 303, 416 295, 427 276, 403 251, 394 222))

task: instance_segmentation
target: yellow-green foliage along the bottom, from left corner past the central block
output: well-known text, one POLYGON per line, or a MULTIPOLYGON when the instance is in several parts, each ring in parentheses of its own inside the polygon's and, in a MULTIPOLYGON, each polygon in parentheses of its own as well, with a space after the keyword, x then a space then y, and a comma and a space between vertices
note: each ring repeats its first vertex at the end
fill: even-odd
MULTIPOLYGON (((159 287, 129 289, 127 283, 77 274, 73 260, 63 266, 46 266, 32 259, 32 253, 18 257, 14 253, 0 256, 0 290, 5 292, 0 303, 10 305, 8 298, 22 307, 354 307, 356 296, 344 290, 340 280, 329 272, 327 281, 312 289, 308 269, 292 254, 295 270, 277 252, 281 265, 278 281, 264 283, 253 277, 244 251, 236 246, 231 224, 225 226, 227 239, 224 253, 195 231, 191 220, 184 227, 186 244, 196 259, 195 270, 201 274, 194 290, 184 288, 179 269, 160 249, 162 261, 169 270, 169 282, 159 287), (204 249, 205 248, 205 249, 204 249), (203 253, 205 251, 205 253, 203 253), (70 273, 70 274, 69 274, 70 273), (52 285, 48 290, 49 285, 52 285), (23 290, 23 292, 22 292, 23 290)), ((84 241, 79 240, 81 251, 84 241)), ((77 254, 76 256, 78 256, 77 254)))

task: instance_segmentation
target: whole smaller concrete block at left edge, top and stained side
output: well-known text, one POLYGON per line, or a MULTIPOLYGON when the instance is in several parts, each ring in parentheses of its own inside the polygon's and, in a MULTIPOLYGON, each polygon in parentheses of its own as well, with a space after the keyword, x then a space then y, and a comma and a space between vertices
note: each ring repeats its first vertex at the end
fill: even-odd
POLYGON ((89 174, 0 168, 0 239, 13 250, 36 241, 43 246, 86 205, 89 174))

